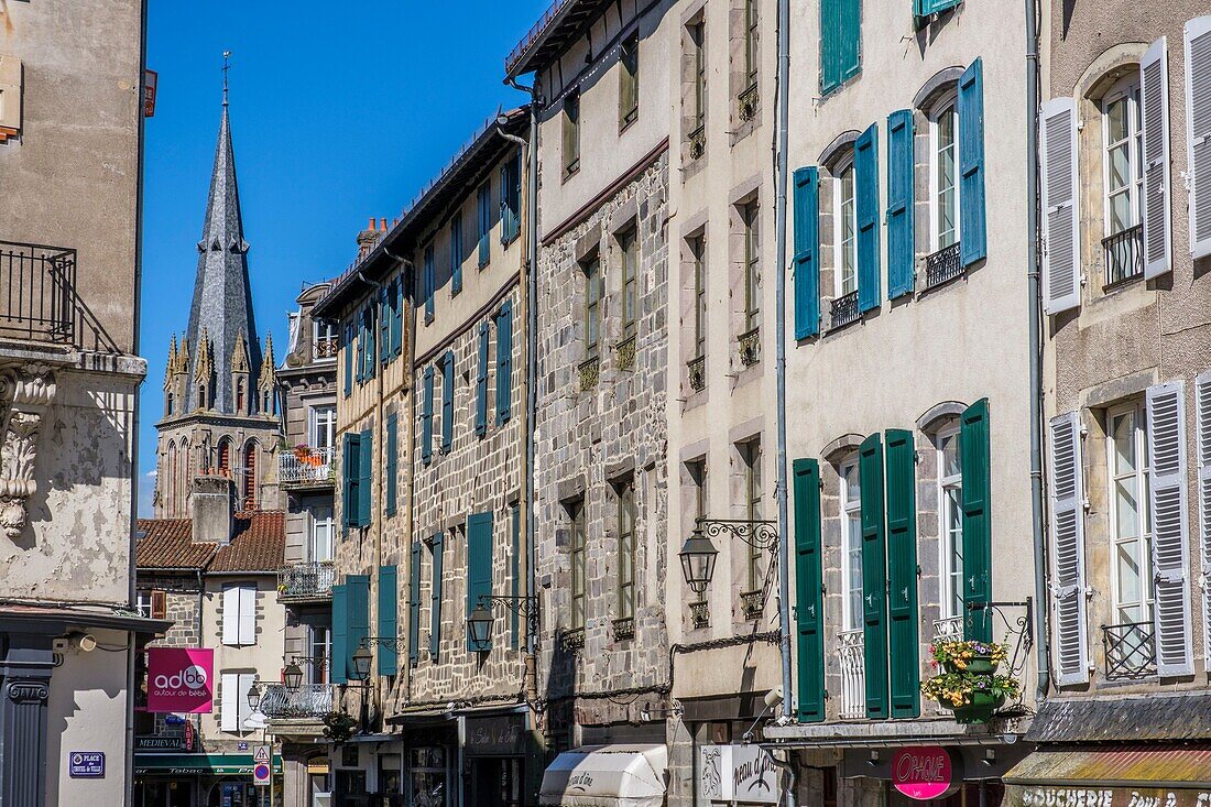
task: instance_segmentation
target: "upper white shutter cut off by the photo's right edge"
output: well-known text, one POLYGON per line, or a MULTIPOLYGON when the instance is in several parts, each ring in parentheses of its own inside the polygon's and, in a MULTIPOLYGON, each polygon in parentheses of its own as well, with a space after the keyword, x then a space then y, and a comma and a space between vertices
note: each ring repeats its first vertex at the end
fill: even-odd
POLYGON ((1186 154, 1190 256, 1211 254, 1211 17, 1186 23, 1186 154))

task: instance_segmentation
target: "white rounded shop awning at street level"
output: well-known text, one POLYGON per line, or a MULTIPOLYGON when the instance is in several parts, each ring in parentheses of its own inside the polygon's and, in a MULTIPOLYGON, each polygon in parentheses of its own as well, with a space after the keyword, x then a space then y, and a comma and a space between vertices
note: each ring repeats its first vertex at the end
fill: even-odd
POLYGON ((543 774, 541 807, 661 807, 664 745, 586 745, 564 751, 543 774))

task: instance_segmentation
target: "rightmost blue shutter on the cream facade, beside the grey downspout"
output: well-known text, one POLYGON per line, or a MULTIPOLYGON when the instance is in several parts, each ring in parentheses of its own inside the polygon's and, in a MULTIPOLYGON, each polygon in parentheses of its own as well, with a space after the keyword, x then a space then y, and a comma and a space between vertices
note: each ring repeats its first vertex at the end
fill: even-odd
POLYGON ((983 59, 959 76, 959 258, 964 267, 988 257, 985 227, 983 59))

